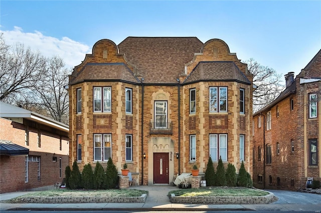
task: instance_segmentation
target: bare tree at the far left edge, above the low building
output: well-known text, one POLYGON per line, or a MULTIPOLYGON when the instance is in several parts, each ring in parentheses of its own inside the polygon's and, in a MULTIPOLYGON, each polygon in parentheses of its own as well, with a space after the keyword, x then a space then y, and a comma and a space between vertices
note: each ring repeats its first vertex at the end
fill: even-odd
POLYGON ((24 44, 7 45, 0 35, 0 100, 13 103, 41 80, 45 58, 24 44))

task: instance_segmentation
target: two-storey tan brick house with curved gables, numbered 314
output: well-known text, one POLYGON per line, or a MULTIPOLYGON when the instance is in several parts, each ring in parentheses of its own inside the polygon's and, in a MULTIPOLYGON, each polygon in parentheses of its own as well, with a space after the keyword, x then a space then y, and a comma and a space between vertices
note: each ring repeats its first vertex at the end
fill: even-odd
POLYGON ((82 170, 112 157, 138 184, 169 184, 241 160, 252 174, 252 74, 220 39, 97 41, 69 76, 70 158, 82 170))

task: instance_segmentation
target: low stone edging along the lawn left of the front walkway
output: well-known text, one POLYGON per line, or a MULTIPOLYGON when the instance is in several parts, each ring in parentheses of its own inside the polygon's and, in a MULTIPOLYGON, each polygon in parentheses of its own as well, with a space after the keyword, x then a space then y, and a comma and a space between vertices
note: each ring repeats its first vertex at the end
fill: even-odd
POLYGON ((104 203, 104 202, 145 202, 147 194, 141 196, 29 196, 19 198, 28 203, 104 203))

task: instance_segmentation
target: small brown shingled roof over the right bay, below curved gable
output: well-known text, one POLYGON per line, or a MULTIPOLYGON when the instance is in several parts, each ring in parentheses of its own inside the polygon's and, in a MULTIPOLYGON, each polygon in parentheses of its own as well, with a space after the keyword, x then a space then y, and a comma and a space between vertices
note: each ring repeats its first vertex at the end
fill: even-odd
POLYGON ((233 61, 201 61, 187 76, 184 83, 200 80, 238 81, 251 84, 233 61))

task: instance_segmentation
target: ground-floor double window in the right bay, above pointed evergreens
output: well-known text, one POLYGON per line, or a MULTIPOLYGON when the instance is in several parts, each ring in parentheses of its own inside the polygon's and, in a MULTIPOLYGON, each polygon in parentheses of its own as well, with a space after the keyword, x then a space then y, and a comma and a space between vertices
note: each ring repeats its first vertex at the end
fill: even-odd
POLYGON ((210 134, 210 156, 213 161, 227 161, 227 134, 210 134))

